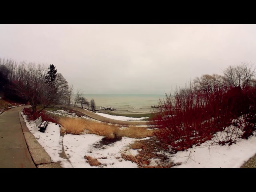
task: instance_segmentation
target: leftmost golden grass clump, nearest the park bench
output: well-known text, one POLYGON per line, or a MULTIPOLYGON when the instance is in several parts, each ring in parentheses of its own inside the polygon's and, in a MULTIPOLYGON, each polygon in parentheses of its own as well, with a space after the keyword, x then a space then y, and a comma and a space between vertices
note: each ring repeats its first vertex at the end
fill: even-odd
POLYGON ((88 122, 89 121, 85 119, 75 119, 68 117, 60 118, 60 124, 62 126, 61 132, 79 135, 86 129, 88 122))

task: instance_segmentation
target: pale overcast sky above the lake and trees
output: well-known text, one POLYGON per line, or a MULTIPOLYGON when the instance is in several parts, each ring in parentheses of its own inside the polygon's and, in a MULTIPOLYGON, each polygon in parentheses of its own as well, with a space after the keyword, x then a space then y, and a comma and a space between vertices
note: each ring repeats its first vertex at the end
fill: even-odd
POLYGON ((256 24, 0 24, 0 57, 54 64, 85 94, 164 94, 256 62, 256 24))

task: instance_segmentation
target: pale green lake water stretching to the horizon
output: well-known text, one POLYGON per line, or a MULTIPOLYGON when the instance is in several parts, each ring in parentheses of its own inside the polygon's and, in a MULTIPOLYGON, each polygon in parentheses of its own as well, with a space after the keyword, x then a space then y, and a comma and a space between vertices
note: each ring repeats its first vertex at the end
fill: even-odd
POLYGON ((153 105, 158 105, 159 98, 164 95, 151 94, 83 94, 90 100, 93 98, 96 103, 96 109, 102 106, 113 107, 115 112, 121 113, 145 113, 151 112, 153 105))

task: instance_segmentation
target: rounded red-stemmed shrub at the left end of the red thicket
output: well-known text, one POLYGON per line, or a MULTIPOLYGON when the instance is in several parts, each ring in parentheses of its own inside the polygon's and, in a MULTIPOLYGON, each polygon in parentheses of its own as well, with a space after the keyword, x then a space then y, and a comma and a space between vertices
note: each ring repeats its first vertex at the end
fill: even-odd
POLYGON ((159 106, 149 126, 158 128, 156 137, 174 150, 183 151, 210 140, 215 132, 214 119, 193 87, 176 90, 174 95, 166 94, 159 106))

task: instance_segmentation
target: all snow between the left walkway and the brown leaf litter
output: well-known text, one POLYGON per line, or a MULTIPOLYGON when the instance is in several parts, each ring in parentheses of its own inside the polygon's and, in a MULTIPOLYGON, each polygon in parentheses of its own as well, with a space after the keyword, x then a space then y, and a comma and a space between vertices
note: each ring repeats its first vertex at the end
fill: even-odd
MULTIPOLYGON (((38 131, 39 128, 35 122, 28 122, 22 112, 26 126, 38 140, 39 144, 50 155, 53 162, 60 162, 64 168, 100 168, 92 167, 86 162, 85 155, 98 158, 99 162, 105 168, 137 168, 137 164, 126 161, 121 158, 121 152, 136 139, 123 137, 122 140, 115 142, 113 145, 104 145, 97 148, 94 145, 100 142, 103 136, 95 134, 72 135, 65 134, 60 136, 60 127, 55 123, 48 123, 44 133, 38 131), (68 160, 61 158, 62 144, 68 160)), ((131 150, 134 154, 136 151, 131 150)))

